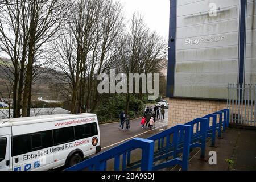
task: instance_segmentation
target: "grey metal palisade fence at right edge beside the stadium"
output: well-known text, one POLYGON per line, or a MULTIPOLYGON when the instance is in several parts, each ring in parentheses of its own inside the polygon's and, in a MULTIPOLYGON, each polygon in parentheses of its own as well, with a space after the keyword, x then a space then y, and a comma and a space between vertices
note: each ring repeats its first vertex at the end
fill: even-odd
POLYGON ((256 126, 256 84, 229 84, 227 106, 230 122, 256 126))

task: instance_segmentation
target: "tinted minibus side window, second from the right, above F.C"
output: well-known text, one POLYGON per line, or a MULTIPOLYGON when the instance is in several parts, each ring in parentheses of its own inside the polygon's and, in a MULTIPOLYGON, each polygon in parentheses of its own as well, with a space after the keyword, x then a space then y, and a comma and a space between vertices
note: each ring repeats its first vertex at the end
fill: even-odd
POLYGON ((53 130, 54 145, 75 141, 74 127, 53 130))

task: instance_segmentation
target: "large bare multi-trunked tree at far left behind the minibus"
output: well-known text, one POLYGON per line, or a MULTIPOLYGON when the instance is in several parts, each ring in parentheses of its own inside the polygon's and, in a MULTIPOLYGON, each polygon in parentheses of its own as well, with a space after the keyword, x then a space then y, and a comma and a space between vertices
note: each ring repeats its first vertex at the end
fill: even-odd
MULTIPOLYGON (((14 81, 14 117, 30 113, 33 70, 38 53, 55 39, 68 14, 69 1, 6 0, 0 5, 0 51, 12 65, 5 65, 14 81)), ((39 56, 40 57, 40 56, 39 56)), ((34 72, 36 73, 36 72, 34 72)))

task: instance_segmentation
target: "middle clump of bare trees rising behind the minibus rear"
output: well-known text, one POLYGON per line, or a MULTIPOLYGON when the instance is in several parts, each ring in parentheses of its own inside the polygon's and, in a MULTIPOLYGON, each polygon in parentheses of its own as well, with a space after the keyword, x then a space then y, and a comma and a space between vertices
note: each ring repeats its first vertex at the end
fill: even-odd
POLYGON ((72 6, 52 55, 55 77, 69 96, 71 113, 93 111, 98 102, 97 75, 114 65, 115 40, 123 31, 122 6, 112 0, 82 0, 72 6), (57 72, 59 74, 57 74, 57 72), (70 91, 71 90, 71 91, 70 91), (86 105, 86 110, 83 107, 86 105))

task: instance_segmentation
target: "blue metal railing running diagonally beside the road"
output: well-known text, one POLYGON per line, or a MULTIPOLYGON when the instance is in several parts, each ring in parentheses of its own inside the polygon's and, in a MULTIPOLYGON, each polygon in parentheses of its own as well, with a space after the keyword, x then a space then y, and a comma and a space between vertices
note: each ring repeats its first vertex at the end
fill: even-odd
POLYGON ((155 171, 177 164, 183 170, 187 170, 189 151, 192 148, 200 147, 201 158, 205 158, 207 138, 212 138, 212 146, 214 146, 216 131, 218 131, 218 137, 221 138, 222 129, 225 131, 226 127, 229 127, 229 118, 229 110, 224 109, 203 118, 197 118, 185 125, 177 125, 147 139, 129 140, 65 171, 84 169, 106 171, 107 162, 111 159, 114 160, 115 171, 131 171, 138 168, 141 168, 142 171, 155 171), (141 160, 131 163, 131 152, 137 149, 142 150, 141 160), (122 167, 120 167, 121 156, 122 167), (162 162, 163 159, 166 161, 162 162))

